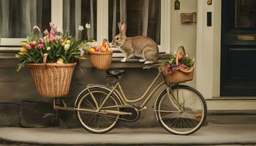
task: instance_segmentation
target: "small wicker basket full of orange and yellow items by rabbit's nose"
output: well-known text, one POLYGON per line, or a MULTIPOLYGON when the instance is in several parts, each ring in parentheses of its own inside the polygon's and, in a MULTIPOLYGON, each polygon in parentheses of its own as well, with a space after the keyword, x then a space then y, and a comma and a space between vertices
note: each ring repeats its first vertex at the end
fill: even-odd
POLYGON ((89 48, 91 64, 97 69, 109 69, 112 62, 112 48, 108 39, 103 39, 102 45, 89 48))

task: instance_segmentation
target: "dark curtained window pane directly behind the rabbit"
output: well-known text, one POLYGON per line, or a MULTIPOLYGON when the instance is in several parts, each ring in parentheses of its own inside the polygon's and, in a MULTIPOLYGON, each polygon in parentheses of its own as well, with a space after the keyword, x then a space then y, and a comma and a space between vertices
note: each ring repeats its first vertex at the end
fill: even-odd
POLYGON ((127 23, 127 37, 148 36, 160 44, 161 1, 109 0, 108 39, 119 33, 117 23, 127 23))

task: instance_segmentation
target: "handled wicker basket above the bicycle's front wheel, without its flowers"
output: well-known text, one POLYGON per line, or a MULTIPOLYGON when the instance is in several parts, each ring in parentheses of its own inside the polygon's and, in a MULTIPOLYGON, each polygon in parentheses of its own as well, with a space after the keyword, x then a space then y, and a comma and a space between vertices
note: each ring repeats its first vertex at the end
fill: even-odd
MULTIPOLYGON (((178 47, 177 55, 181 52, 186 55, 186 52, 183 46, 178 47)), ((178 57, 176 57, 176 65, 179 65, 178 57)), ((193 80, 194 68, 195 68, 195 64, 189 70, 178 69, 168 74, 165 74, 165 72, 163 72, 163 74, 165 74, 165 79, 167 80, 167 82, 170 82, 170 83, 187 82, 187 81, 193 80)))

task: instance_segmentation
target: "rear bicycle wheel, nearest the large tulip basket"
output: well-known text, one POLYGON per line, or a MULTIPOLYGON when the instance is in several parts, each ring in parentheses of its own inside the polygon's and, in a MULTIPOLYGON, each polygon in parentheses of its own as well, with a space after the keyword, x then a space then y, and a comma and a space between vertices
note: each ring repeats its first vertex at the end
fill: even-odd
MULTIPOLYGON (((83 111, 97 110, 97 104, 100 106, 109 93, 109 91, 104 88, 90 88, 90 91, 91 93, 89 93, 88 90, 85 91, 83 95, 80 96, 80 99, 78 99, 77 108, 82 110, 77 111, 77 117, 80 124, 87 131, 94 134, 104 134, 115 128, 119 115, 83 111), (95 100, 91 94, 94 96, 95 100)), ((108 110, 119 111, 119 108, 116 107, 118 104, 120 103, 118 100, 116 100, 116 97, 114 95, 110 95, 102 108, 111 106, 111 108, 108 108, 108 110)))

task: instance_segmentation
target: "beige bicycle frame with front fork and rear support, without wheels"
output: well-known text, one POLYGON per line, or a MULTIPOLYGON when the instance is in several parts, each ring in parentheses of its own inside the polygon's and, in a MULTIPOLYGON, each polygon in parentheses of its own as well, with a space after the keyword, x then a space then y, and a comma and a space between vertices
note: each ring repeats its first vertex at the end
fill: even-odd
MULTIPOLYGON (((94 100, 94 103, 96 104, 97 110, 86 110, 86 109, 82 109, 82 108, 76 108, 76 107, 67 107, 67 105, 65 104, 64 100, 61 99, 61 102, 64 104, 64 107, 61 107, 59 105, 56 105, 56 101, 55 99, 53 99, 53 108, 56 110, 71 110, 71 111, 84 111, 84 112, 102 112, 102 107, 105 104, 105 102, 108 100, 108 98, 110 97, 111 94, 115 94, 116 96, 118 96, 118 99, 121 100, 122 104, 118 105, 116 107, 130 107, 131 103, 136 103, 139 101, 143 101, 142 104, 140 104, 140 106, 138 107, 137 110, 142 110, 143 107, 146 107, 146 104, 148 104, 148 101, 151 99, 152 95, 157 91, 157 89, 159 89, 162 85, 165 85, 165 89, 167 90, 167 95, 169 96, 169 99, 171 101, 171 103, 173 105, 175 105, 176 109, 178 111, 181 112, 182 106, 181 104, 179 104, 178 100, 175 98, 175 96, 173 95, 172 91, 170 90, 170 85, 165 81, 164 77, 164 81, 159 82, 157 85, 155 85, 155 87, 153 88, 154 84, 157 82, 157 80, 159 79, 159 77, 162 76, 162 73, 158 73, 157 76, 154 78, 154 80, 151 82, 151 84, 148 86, 148 88, 146 89, 146 91, 143 93, 142 96, 140 96, 138 99, 134 99, 134 100, 129 100, 127 99, 127 96, 125 96, 123 89, 121 88, 121 85, 118 81, 116 81, 116 84, 113 85, 113 88, 108 88, 105 85, 92 85, 89 84, 88 87, 86 89, 84 89, 83 91, 88 90, 89 93, 91 94, 92 99, 94 100), (108 93, 107 97, 105 98, 104 101, 102 101, 101 105, 97 104, 97 101, 94 97, 94 95, 91 93, 90 88, 91 87, 102 87, 107 89, 108 91, 110 91, 110 93, 108 93), (152 89, 153 88, 153 89, 152 89), (152 89, 152 90, 151 90, 152 89), (119 92, 120 91, 120 92, 119 92), (171 92, 170 92, 171 91, 171 92), (148 94, 149 93, 149 94, 148 94), (148 96, 147 96, 148 95, 148 96)), ((83 91, 81 91, 80 93, 83 93, 83 91)), ((78 95, 80 96, 80 94, 78 95)), ((178 96, 178 95, 177 95, 178 96)), ((78 99, 77 99, 78 100, 78 99)), ((77 100, 75 101, 75 105, 77 104, 77 100)), ((113 107, 113 106, 112 106, 113 107)), ((104 107, 104 109, 108 109, 110 107, 104 107)), ((113 110, 104 110, 104 112, 107 113, 111 113, 111 114, 117 114, 117 115, 130 115, 129 112, 120 112, 120 111, 113 111, 113 110)))

